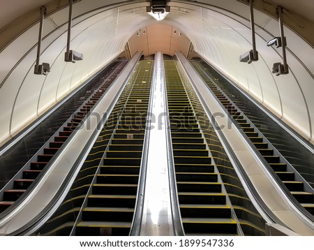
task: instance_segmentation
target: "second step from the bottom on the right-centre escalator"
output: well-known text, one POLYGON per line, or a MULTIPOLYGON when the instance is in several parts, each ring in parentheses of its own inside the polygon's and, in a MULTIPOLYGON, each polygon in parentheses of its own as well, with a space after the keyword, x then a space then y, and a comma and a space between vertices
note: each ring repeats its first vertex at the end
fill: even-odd
POLYGON ((182 217, 188 218, 230 218, 231 208, 228 205, 190 205, 181 204, 180 212, 182 217))

